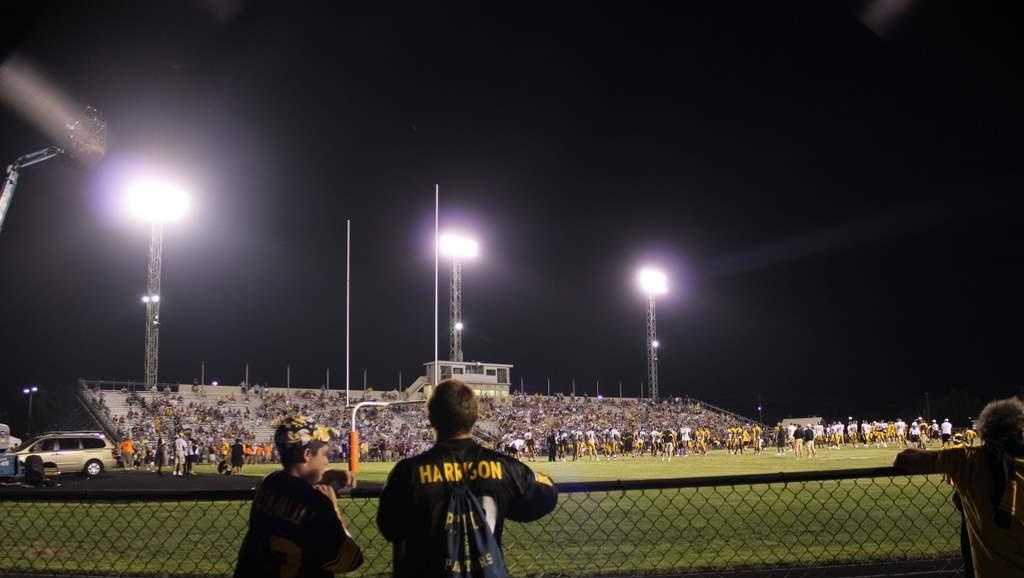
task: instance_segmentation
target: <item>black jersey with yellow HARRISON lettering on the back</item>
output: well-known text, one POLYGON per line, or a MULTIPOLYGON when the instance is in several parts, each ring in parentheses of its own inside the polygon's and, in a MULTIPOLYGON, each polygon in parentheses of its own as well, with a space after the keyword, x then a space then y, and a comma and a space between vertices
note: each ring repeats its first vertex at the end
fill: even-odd
POLYGON ((480 500, 498 543, 505 519, 532 522, 555 508, 551 479, 472 440, 438 442, 395 464, 377 510, 377 527, 393 543, 396 578, 444 575, 441 518, 449 485, 466 484, 480 500))

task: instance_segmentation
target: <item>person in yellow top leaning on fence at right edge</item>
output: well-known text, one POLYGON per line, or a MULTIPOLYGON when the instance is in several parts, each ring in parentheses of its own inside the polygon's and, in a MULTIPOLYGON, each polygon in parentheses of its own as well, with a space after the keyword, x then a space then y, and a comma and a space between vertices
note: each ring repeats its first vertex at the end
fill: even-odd
POLYGON ((991 402, 978 421, 984 445, 903 450, 895 466, 949 477, 963 505, 975 576, 1024 576, 1024 403, 991 402))

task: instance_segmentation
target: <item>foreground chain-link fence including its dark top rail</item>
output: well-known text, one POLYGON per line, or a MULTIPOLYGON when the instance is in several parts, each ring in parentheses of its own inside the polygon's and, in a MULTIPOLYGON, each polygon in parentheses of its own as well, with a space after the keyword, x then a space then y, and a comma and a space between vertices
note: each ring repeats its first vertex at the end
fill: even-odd
MULTIPOLYGON (((957 576, 959 514, 941 477, 892 468, 559 485, 558 508, 509 522, 513 576, 957 576), (924 573, 924 574, 916 574, 924 573)), ((340 500, 386 576, 379 490, 340 500)), ((0 575, 225 576, 251 491, 0 491, 0 575)))

